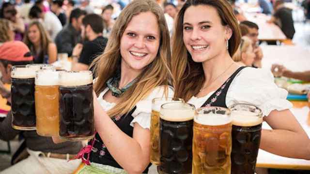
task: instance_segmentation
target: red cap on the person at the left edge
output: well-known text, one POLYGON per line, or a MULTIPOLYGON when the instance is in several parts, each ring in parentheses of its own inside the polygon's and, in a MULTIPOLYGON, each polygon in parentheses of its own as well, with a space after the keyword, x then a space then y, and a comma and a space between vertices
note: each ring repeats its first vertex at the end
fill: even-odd
POLYGON ((0 46, 0 59, 8 61, 31 61, 33 57, 25 43, 10 41, 0 46))

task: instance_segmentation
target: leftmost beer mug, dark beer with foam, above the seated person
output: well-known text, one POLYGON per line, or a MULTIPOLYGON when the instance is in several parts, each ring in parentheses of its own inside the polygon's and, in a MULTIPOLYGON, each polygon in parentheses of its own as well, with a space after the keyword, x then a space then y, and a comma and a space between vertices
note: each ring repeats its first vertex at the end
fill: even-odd
POLYGON ((12 127, 16 130, 36 129, 34 104, 35 70, 25 65, 12 67, 12 127))

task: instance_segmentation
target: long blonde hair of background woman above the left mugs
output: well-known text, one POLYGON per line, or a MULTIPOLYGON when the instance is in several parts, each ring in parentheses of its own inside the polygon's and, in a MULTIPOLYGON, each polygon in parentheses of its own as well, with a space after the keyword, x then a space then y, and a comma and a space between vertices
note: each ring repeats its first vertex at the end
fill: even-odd
POLYGON ((39 53, 39 58, 43 60, 44 55, 47 54, 48 51, 48 45, 49 43, 52 43, 49 34, 47 33, 47 30, 44 29, 43 25, 39 22, 39 21, 34 21, 32 22, 28 29, 26 30, 26 34, 24 37, 24 43, 28 46, 28 48, 31 50, 32 53, 36 54, 36 50, 35 50, 35 46, 33 45, 33 43, 31 43, 29 36, 28 36, 28 32, 29 29, 32 26, 37 26, 37 28, 39 29, 40 32, 40 47, 41 47, 41 51, 39 53))

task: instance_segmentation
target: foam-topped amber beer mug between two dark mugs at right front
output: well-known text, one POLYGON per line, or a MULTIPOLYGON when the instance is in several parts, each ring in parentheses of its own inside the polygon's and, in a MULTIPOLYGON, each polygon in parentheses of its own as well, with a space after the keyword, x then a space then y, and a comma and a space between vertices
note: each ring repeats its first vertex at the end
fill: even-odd
POLYGON ((193 130, 192 174, 230 174, 232 120, 229 109, 197 109, 193 130))

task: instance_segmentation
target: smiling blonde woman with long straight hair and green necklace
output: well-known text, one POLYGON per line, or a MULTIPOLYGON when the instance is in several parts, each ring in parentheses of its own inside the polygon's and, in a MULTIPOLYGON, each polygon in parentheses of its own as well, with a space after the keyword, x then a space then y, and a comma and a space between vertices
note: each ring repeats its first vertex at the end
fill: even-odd
POLYGON ((104 53, 93 62, 97 133, 81 151, 88 153, 80 157, 90 165, 79 174, 147 172, 151 101, 173 96, 170 60, 161 8, 154 0, 133 0, 116 20, 104 53))

